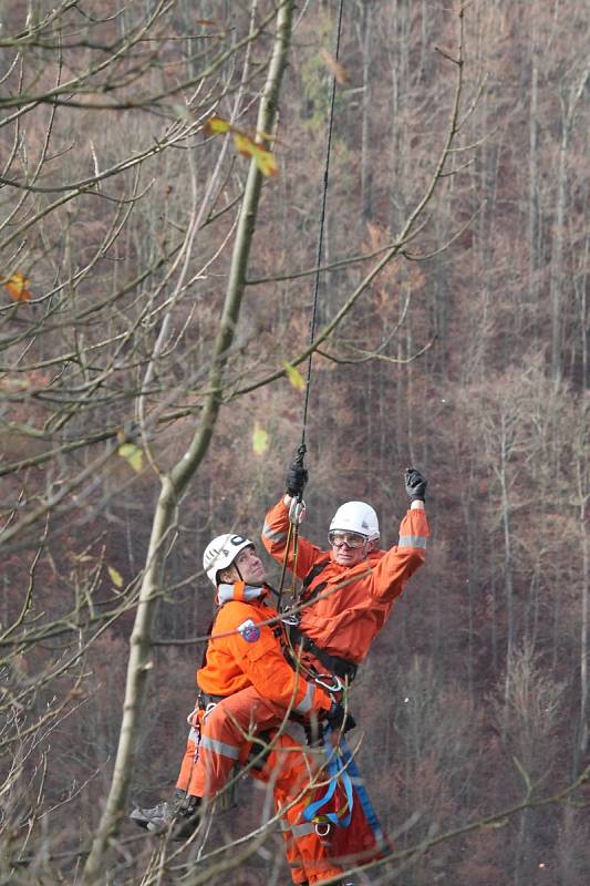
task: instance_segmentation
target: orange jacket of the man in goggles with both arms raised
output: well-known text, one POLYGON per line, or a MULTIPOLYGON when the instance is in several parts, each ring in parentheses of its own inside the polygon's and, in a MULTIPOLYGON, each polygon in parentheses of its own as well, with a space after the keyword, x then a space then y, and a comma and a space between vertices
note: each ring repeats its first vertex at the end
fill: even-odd
MULTIPOLYGON (((289 507, 281 498, 267 514, 262 529, 262 544, 279 563, 284 557, 288 530, 289 507)), ((322 550, 299 536, 298 578, 306 578, 314 566, 328 562, 304 594, 308 599, 314 588, 325 583, 319 598, 301 611, 303 633, 331 656, 361 662, 385 624, 395 598, 424 563, 428 535, 424 508, 410 509, 400 526, 400 543, 390 550, 372 550, 355 566, 340 566, 330 550, 322 550), (342 586, 338 587, 340 584, 342 586), (331 588, 334 588, 332 594, 329 593, 331 588)), ((288 566, 293 566, 292 550, 288 566)))

